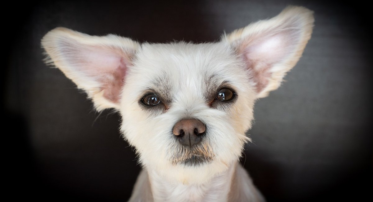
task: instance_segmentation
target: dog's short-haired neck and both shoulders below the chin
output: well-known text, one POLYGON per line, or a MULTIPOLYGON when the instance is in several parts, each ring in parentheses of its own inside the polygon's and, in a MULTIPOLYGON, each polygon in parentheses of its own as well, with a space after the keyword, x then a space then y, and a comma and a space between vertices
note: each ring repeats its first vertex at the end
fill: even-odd
POLYGON ((155 171, 142 170, 129 202, 265 201, 238 162, 200 185, 170 183, 155 171))

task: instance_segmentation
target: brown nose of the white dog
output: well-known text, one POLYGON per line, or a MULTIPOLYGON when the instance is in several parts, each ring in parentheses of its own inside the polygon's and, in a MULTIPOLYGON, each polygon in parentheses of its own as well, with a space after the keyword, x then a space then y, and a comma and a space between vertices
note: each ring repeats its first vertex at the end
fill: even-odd
POLYGON ((192 146, 202 139, 206 126, 197 119, 184 119, 173 126, 173 135, 176 135, 183 145, 192 146))

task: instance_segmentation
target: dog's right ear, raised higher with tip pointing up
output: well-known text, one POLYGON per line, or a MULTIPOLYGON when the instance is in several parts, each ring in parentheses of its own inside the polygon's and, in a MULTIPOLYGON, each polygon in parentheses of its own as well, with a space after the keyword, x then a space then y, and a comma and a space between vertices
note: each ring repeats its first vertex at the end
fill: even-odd
POLYGON ((295 66, 311 38, 313 23, 311 10, 289 6, 272 19, 222 36, 222 41, 244 59, 256 83, 257 98, 277 89, 286 72, 295 66))

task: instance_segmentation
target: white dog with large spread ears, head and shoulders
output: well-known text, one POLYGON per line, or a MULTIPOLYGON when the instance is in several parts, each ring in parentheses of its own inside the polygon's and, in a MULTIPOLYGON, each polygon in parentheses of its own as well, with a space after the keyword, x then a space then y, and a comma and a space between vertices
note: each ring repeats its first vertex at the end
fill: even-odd
POLYGON ((238 163, 245 132, 254 102, 295 66, 313 23, 313 12, 290 6, 215 43, 140 44, 56 28, 41 44, 98 111, 120 113, 143 167, 129 201, 264 201, 238 163))

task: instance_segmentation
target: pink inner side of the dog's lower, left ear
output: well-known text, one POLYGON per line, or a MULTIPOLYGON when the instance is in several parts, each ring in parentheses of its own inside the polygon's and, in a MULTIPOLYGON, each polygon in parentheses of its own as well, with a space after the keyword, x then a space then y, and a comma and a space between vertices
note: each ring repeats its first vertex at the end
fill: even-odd
POLYGON ((84 85, 86 90, 103 91, 106 100, 119 103, 120 91, 130 64, 129 53, 123 53, 122 48, 66 41, 60 44, 62 57, 71 67, 73 75, 83 79, 84 83, 79 85, 84 85), (90 83, 97 83, 98 86, 91 86, 90 83))

